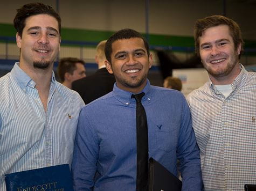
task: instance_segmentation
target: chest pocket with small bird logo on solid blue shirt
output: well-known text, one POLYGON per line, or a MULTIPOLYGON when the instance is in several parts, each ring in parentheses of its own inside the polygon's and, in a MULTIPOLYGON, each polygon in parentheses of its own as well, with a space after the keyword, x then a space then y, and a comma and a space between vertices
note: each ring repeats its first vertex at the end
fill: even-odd
POLYGON ((172 151, 177 148, 178 133, 177 126, 174 123, 155 124, 155 135, 157 148, 163 151, 172 151))

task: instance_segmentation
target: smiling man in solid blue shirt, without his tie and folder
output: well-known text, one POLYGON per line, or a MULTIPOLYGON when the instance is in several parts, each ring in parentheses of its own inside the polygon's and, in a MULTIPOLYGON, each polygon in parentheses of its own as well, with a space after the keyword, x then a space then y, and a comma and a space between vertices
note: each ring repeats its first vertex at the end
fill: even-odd
POLYGON ((145 93, 148 155, 177 176, 182 190, 201 190, 199 150, 183 95, 151 86, 149 46, 142 35, 124 29, 110 36, 105 62, 116 83, 113 91, 82 108, 72 172, 75 190, 136 190, 136 101, 145 93))

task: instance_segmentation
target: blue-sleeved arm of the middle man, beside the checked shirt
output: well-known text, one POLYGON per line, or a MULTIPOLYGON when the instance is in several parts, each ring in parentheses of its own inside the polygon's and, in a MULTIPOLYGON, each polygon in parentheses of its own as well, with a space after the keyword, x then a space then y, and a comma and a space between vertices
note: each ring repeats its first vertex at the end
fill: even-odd
POLYGON ((185 100, 183 101, 177 155, 181 162, 182 190, 202 190, 199 149, 192 129, 190 110, 185 100))

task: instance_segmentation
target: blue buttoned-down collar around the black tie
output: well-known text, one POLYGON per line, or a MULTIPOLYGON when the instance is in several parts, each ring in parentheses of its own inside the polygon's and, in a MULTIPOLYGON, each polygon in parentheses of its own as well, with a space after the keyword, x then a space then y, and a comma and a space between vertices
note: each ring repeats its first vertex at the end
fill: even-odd
MULTIPOLYGON (((150 102, 151 100, 151 85, 149 80, 147 79, 147 84, 144 87, 144 89, 141 91, 145 93, 145 96, 143 96, 142 101, 143 100, 147 100, 148 102, 150 102)), ((139 92, 139 93, 141 93, 139 92)), ((124 105, 130 105, 131 102, 136 102, 135 99, 132 99, 132 92, 128 92, 128 91, 124 91, 122 89, 120 89, 119 87, 117 87, 116 83, 114 84, 113 87, 113 96, 119 100, 120 102, 122 102, 122 104, 124 105)))

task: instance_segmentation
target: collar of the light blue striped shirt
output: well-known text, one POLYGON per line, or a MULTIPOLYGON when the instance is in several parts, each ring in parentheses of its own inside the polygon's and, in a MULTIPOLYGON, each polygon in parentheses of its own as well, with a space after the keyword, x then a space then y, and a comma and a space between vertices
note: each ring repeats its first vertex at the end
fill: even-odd
MULTIPOLYGON (((19 62, 16 62, 11 70, 11 76, 15 79, 15 81, 18 83, 18 85, 21 87, 21 89, 26 92, 26 87, 34 87, 36 86, 36 83, 34 80, 32 80, 29 75, 26 74, 20 67, 19 62)), ((51 82, 56 85, 56 78, 54 75, 54 72, 52 71, 52 79, 51 82)))

